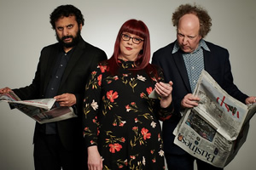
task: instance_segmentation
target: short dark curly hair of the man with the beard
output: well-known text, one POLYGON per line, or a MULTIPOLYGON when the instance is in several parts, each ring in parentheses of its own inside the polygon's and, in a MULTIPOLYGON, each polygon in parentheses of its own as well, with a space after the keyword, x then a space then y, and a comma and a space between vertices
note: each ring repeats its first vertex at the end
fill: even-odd
POLYGON ((73 5, 61 5, 49 14, 49 23, 52 26, 52 29, 55 30, 55 21, 59 20, 62 16, 68 17, 70 15, 74 15, 78 24, 82 24, 84 26, 84 16, 79 10, 79 8, 74 7, 73 5))

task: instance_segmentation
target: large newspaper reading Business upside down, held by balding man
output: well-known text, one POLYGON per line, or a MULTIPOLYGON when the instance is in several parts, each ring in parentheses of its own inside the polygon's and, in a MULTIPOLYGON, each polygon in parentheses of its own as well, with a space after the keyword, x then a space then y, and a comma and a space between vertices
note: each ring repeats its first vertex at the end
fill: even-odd
POLYGON ((247 139, 256 103, 244 105, 201 72, 194 95, 199 105, 188 109, 173 131, 177 144, 190 155, 215 167, 225 167, 247 139))

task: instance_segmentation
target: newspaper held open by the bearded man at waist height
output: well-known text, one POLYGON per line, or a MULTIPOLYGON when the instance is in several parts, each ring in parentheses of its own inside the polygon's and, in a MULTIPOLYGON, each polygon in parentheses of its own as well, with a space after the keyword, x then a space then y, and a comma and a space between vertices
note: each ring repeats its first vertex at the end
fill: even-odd
POLYGON ((0 101, 8 102, 11 108, 18 109, 40 124, 77 117, 72 107, 57 107, 55 99, 20 100, 14 92, 10 92, 0 94, 0 101))

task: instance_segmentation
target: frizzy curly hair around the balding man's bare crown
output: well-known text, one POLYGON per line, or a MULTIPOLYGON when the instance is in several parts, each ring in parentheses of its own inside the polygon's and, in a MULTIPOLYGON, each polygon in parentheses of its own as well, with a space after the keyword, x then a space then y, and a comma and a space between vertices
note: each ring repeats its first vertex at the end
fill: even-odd
POLYGON ((202 38, 206 37, 208 32, 211 31, 212 19, 207 13, 207 10, 197 5, 183 4, 180 5, 172 14, 172 24, 178 27, 178 21, 184 14, 195 14, 200 22, 199 34, 202 38))

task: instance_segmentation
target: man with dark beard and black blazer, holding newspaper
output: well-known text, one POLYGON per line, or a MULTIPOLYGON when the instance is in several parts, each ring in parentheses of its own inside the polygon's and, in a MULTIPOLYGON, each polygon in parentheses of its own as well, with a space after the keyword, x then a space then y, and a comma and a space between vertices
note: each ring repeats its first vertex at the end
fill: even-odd
MULTIPOLYGON (((41 51, 32 84, 13 91, 23 100, 55 98, 56 105, 71 106, 78 115, 60 122, 36 123, 35 169, 87 169, 81 125, 84 87, 90 72, 99 61, 107 59, 107 55, 84 42, 80 35, 84 17, 73 5, 55 8, 50 14, 50 23, 58 42, 41 51)), ((10 91, 10 88, 1 88, 0 94, 10 91)))

